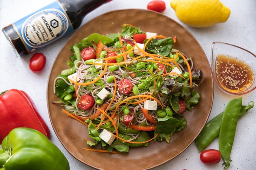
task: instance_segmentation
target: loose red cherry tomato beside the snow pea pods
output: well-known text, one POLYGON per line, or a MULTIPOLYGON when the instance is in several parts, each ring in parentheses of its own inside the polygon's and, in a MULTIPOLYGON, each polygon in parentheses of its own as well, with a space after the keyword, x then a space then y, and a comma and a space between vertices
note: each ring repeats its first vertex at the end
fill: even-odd
POLYGON ((200 154, 200 160, 205 164, 217 164, 221 161, 221 153, 218 150, 204 150, 200 154))

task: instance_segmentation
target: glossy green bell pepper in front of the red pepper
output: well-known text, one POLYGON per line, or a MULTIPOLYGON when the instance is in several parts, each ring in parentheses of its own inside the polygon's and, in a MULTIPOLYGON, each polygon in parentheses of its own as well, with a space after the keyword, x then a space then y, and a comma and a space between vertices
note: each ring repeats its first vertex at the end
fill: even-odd
POLYGON ((69 162, 49 139, 37 130, 17 127, 2 141, 0 170, 69 170, 69 162))

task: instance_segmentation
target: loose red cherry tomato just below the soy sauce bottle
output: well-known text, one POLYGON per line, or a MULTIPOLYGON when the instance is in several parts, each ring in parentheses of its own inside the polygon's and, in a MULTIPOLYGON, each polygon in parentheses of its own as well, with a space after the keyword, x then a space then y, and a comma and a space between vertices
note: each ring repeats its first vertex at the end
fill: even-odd
POLYGON ((43 70, 46 63, 46 57, 42 53, 35 53, 29 61, 29 68, 34 73, 39 73, 43 70))

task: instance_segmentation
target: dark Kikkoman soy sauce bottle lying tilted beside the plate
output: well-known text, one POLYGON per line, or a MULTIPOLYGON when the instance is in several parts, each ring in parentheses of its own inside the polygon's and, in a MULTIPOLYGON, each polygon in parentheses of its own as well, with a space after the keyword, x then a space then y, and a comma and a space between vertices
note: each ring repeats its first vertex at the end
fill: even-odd
POLYGON ((2 29, 17 57, 24 57, 78 28, 83 17, 111 0, 58 0, 2 29))

